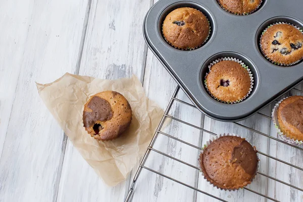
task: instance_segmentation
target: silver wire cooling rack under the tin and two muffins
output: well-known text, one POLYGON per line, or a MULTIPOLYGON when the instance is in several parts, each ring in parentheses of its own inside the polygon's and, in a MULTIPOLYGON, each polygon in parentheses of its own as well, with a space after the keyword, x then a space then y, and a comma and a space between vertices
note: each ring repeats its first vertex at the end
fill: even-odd
MULTIPOLYGON (((157 130, 156 130, 156 132, 155 132, 155 135, 154 135, 153 139, 151 140, 151 142, 150 142, 150 144, 149 144, 149 146, 148 146, 148 148, 147 148, 147 151, 146 151, 145 155, 143 156, 143 159, 142 159, 142 161, 141 161, 141 163, 140 163, 140 165, 139 165, 139 168, 138 168, 138 170, 137 170, 137 172, 136 172, 136 174, 135 174, 135 176, 134 176, 134 179, 133 179, 132 184, 131 184, 131 186, 130 186, 128 195, 127 195, 127 197, 125 198, 125 202, 130 202, 130 201, 131 201, 131 199, 132 199, 132 194, 133 194, 133 192, 134 192, 134 190, 135 190, 136 181, 138 180, 138 178, 139 178, 139 176, 140 176, 140 173, 141 173, 141 171, 142 171, 143 169, 145 169, 145 170, 147 170, 147 171, 150 171, 150 172, 153 172, 153 173, 156 173, 157 175, 160 175, 160 176, 162 176, 162 177, 164 177, 164 178, 167 178, 167 179, 169 179, 169 180, 172 180, 172 181, 174 181, 174 182, 177 182, 177 183, 179 183, 179 184, 181 184, 181 185, 184 185, 184 186, 186 186, 186 187, 188 187, 188 188, 191 188, 191 189, 193 189, 193 190, 195 190, 195 191, 197 191, 197 192, 200 192, 200 193, 202 193, 202 194, 206 194, 206 195, 208 195, 208 196, 210 196, 210 197, 213 197, 213 198, 215 198, 215 199, 217 199, 217 200, 219 200, 219 201, 227 201, 227 200, 225 200, 225 199, 223 199, 223 198, 220 198, 220 197, 218 197, 218 196, 216 196, 216 195, 213 195, 213 194, 211 194, 211 193, 209 193, 209 192, 206 192, 206 191, 204 191, 204 190, 198 189, 197 187, 194 187, 194 186, 192 186, 192 185, 190 185, 190 184, 184 183, 184 182, 182 182, 180 179, 170 177, 170 176, 164 174, 164 173, 161 172, 161 171, 156 171, 155 169, 152 169, 152 168, 150 168, 150 167, 148 167, 148 166, 145 165, 145 162, 146 162, 146 160, 148 159, 148 156, 149 156, 150 152, 153 151, 153 152, 156 152, 156 153, 158 153, 158 154, 160 154, 160 155, 163 155, 163 156, 165 156, 165 157, 167 157, 167 158, 170 158, 170 159, 173 160, 173 161, 177 161, 177 162, 179 162, 179 163, 181 163, 181 164, 184 164, 185 166, 189 166, 189 167, 191 167, 191 168, 193 168, 193 169, 199 170, 199 168, 198 168, 197 166, 195 166, 195 165, 192 165, 192 164, 190 164, 190 163, 184 162, 184 161, 182 161, 182 160, 180 160, 180 159, 178 159, 178 158, 175 158, 175 157, 173 157, 173 156, 171 156, 171 155, 169 155, 169 154, 166 154, 165 152, 161 152, 161 151, 155 149, 155 147, 154 147, 154 146, 155 146, 155 142, 156 142, 157 138, 159 137, 159 134, 161 134, 161 135, 163 135, 163 136, 166 136, 167 138, 174 139, 175 141, 178 141, 178 142, 180 142, 180 143, 182 143, 182 144, 185 144, 185 145, 187 145, 187 146, 190 146, 190 147, 192 147, 192 148, 195 148, 195 149, 198 149, 198 150, 201 149, 200 147, 197 147, 197 146, 195 146, 195 145, 192 145, 191 143, 188 143, 188 142, 183 141, 183 140, 181 140, 181 139, 178 139, 178 138, 176 138, 176 137, 174 137, 174 136, 172 136, 172 135, 170 135, 170 134, 168 134, 168 133, 166 133, 166 132, 163 132, 163 131, 161 130, 161 128, 162 128, 162 126, 163 126, 164 121, 166 120, 166 118, 170 118, 170 119, 175 120, 175 121, 178 121, 178 122, 180 122, 180 123, 182 123, 182 124, 186 124, 186 125, 188 125, 188 126, 190 126, 190 127, 194 127, 194 128, 196 128, 196 129, 198 129, 198 130, 200 130, 200 131, 209 133, 209 134, 211 134, 211 135, 213 135, 213 136, 217 136, 217 134, 214 133, 214 132, 211 132, 211 131, 206 130, 206 129, 204 129, 204 128, 201 128, 201 127, 199 127, 199 126, 193 125, 193 124, 191 124, 191 123, 189 123, 189 122, 183 121, 183 120, 181 120, 181 119, 179 119, 179 118, 177 118, 177 117, 174 117, 174 116, 172 116, 172 115, 169 115, 169 112, 170 112, 170 110, 171 110, 172 105, 173 105, 174 102, 179 102, 179 103, 188 105, 188 106, 190 106, 190 107, 196 108, 193 104, 188 103, 188 102, 185 102, 185 101, 183 101, 183 100, 177 98, 177 95, 178 95, 178 93, 179 93, 179 90, 180 90, 180 87, 178 86, 178 87, 176 88, 176 90, 175 90, 173 96, 172 96, 171 99, 170 99, 170 102, 169 102, 169 104, 168 104, 168 106, 167 106, 167 109, 165 110, 165 113, 164 113, 164 115, 163 115, 163 117, 162 117, 162 119, 161 119, 161 121, 160 121, 160 124, 159 124, 159 126, 158 126, 158 128, 157 128, 157 130)), ((299 89, 293 88, 292 90, 297 91, 299 94, 303 94, 303 91, 301 91, 301 90, 299 90, 299 89)), ((278 101, 279 101, 279 100, 276 100, 275 102, 278 102, 278 101)), ((260 115, 262 115, 262 116, 264 116, 264 117, 266 117, 266 118, 268 118, 268 119, 271 119, 270 116, 268 116, 268 115, 266 115, 266 114, 263 114, 263 113, 261 113, 261 112, 258 112, 258 114, 260 114, 260 115)), ((241 123, 238 123, 238 122, 233 122, 233 123, 236 124, 236 125, 238 125, 239 127, 243 127, 243 128, 245 128, 245 129, 248 129, 248 130, 250 130, 251 132, 258 133, 258 134, 260 134, 261 136, 267 137, 267 138, 269 138, 270 140, 277 141, 277 142, 279 142, 279 143, 283 143, 283 144, 285 144, 286 147, 295 148, 296 150, 298 150, 298 151, 300 152, 300 155, 301 155, 301 156, 303 155, 303 148, 301 148, 301 147, 296 147, 296 146, 290 145, 290 144, 288 144, 288 143, 286 143, 286 142, 284 142, 284 141, 282 141, 282 140, 280 140, 280 139, 277 139, 277 138, 275 138, 275 137, 270 136, 270 134, 266 134, 266 133, 261 132, 261 131, 259 131, 259 130, 256 130, 256 129, 247 127, 247 126, 245 126, 245 125, 243 125, 243 124, 241 124, 241 123)), ((257 149, 258 149, 258 148, 257 148, 257 149)), ((270 159, 272 159, 272 160, 274 160, 274 161, 276 161, 276 162, 280 162, 280 163, 285 164, 285 165, 288 165, 288 166, 290 166, 290 167, 292 167, 292 168, 295 168, 295 169, 298 169, 298 170, 300 170, 300 171, 303 171, 303 168, 302 168, 302 167, 303 167, 303 163, 302 163, 302 161, 298 162, 298 163, 300 163, 300 166, 297 166, 297 165, 293 165, 293 164, 288 163, 288 162, 286 162, 286 161, 284 161, 284 160, 281 160, 281 159, 279 159, 279 158, 276 158, 276 157, 274 157, 274 156, 271 156, 271 155, 269 155, 269 154, 266 154, 266 153, 263 153, 263 152, 260 152, 260 151, 258 151, 258 154, 259 154, 259 155, 262 155, 262 156, 264 156, 264 157, 268 157, 268 158, 270 158, 270 159)), ((257 173, 258 173, 257 175, 262 175, 262 176, 267 177, 267 178, 269 178, 269 179, 271 179, 271 180, 275 180, 275 181, 278 182, 278 183, 282 183, 282 184, 284 184, 284 185, 286 185, 286 186, 289 186, 289 187, 291 187, 291 188, 293 188, 293 189, 295 189, 295 190, 297 190, 297 191, 302 191, 302 193, 303 193, 303 189, 300 188, 300 187, 297 187, 297 186, 293 185, 294 183, 285 182, 285 181, 283 181, 283 180, 280 180, 280 179, 277 179, 277 178, 275 178, 275 177, 272 177, 272 176, 270 176, 270 175, 268 175, 268 174, 266 174, 266 173, 264 173, 264 172, 261 172, 261 171, 258 171, 257 173)), ((253 182, 253 183, 254 183, 254 182, 253 182)), ((209 185, 209 186, 211 186, 211 185, 209 185)), ((277 201, 277 202, 280 202, 280 200, 278 200, 278 199, 276 199, 276 198, 273 198, 273 197, 270 197, 270 196, 267 195, 267 194, 261 193, 260 191, 253 190, 253 189, 250 189, 250 188, 248 188, 248 187, 244 187, 244 189, 247 190, 247 191, 250 191, 250 192, 252 192, 252 193, 254 193, 254 194, 258 194, 259 196, 264 197, 264 198, 267 199, 268 201, 277 201)), ((282 191, 285 191, 285 190, 282 190, 282 191)), ((303 197, 302 197, 302 198, 303 198, 303 197)), ((298 200, 297 200, 297 199, 295 199, 295 200, 296 200, 296 201, 300 201, 300 198, 298 198, 298 200)))

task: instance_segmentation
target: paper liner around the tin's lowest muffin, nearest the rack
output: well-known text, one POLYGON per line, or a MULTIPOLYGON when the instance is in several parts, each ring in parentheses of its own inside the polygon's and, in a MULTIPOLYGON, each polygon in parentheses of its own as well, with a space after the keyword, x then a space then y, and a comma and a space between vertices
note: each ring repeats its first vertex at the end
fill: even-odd
POLYGON ((244 68, 245 70, 247 70, 247 72, 248 72, 248 74, 249 74, 249 77, 250 77, 250 88, 249 88, 248 93, 247 93, 243 98, 241 98, 240 100, 236 100, 236 101, 233 101, 233 102, 230 102, 230 101, 223 101, 223 100, 221 100, 221 99, 215 97, 215 96, 210 92, 210 90, 209 90, 209 88, 208 88, 208 85, 207 85, 207 78, 206 78, 206 77, 208 76, 209 73, 206 73, 205 80, 204 80, 204 84, 205 84, 205 87, 206 87, 207 92, 208 92, 213 98, 215 98, 216 100, 218 100, 218 101, 220 101, 220 102, 223 102, 223 103, 227 103, 227 104, 235 104, 235 103, 238 103, 238 102, 243 101, 245 98, 247 98, 247 97, 249 96, 249 94, 250 94, 251 91, 252 91, 252 88, 254 88, 254 77, 252 76, 252 74, 251 74, 251 72, 250 72, 250 69, 248 68, 248 66, 246 66, 246 65, 244 64, 244 62, 242 62, 242 61, 239 60, 239 59, 233 58, 233 57, 224 57, 224 58, 221 57, 220 59, 216 59, 215 61, 213 61, 213 62, 208 66, 208 68, 209 68, 209 70, 210 70, 209 72, 211 72, 212 66, 214 66, 216 63, 218 63, 218 62, 220 62, 220 61, 224 61, 224 60, 235 61, 235 62, 239 63, 241 66, 243 66, 243 68, 244 68))

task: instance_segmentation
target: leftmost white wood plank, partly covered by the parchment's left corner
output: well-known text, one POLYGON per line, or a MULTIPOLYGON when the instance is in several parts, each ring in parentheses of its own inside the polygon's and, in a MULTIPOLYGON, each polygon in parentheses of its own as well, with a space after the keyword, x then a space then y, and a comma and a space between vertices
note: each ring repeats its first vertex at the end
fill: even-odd
POLYGON ((35 81, 76 71, 87 1, 1 1, 0 201, 54 201, 64 133, 35 81))

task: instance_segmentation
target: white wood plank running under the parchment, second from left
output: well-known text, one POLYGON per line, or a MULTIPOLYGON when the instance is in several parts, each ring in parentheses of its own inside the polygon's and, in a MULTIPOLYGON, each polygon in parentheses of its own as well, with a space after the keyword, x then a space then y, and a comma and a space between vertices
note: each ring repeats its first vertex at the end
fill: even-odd
MULTIPOLYGON (((142 22, 149 7, 149 1, 92 1, 79 75, 117 79, 134 74, 142 81, 147 49, 142 22)), ((68 141, 58 201, 123 201, 128 182, 105 185, 68 141)))

